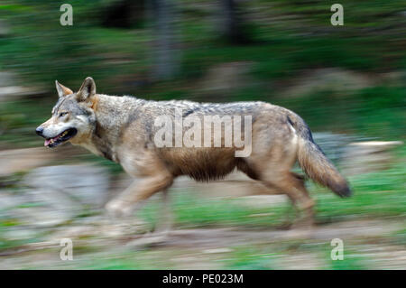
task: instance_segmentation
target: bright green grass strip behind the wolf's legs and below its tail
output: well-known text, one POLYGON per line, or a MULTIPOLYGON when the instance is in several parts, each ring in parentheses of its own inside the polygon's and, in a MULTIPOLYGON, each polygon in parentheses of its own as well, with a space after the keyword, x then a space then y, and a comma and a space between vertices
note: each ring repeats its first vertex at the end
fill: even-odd
MULTIPOLYGON (((396 151, 399 163, 382 172, 350 177, 354 196, 340 199, 331 191, 311 182, 309 190, 317 200, 318 222, 340 218, 404 218, 406 216, 406 187, 403 179, 405 148, 396 151)), ((197 197, 192 190, 180 190, 172 195, 176 225, 180 227, 245 227, 269 228, 281 225, 291 213, 289 203, 272 208, 246 208, 240 199, 208 199, 197 197)), ((152 201, 143 209, 143 218, 156 220, 160 205, 152 201)))

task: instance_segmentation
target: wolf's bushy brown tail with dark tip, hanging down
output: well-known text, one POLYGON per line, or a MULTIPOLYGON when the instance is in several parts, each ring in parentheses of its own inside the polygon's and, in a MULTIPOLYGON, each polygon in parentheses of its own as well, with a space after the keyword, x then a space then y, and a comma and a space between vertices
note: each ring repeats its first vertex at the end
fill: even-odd
POLYGON ((299 134, 298 161, 309 178, 333 190, 340 197, 351 196, 346 179, 314 142, 309 126, 295 114, 290 114, 288 121, 299 134))

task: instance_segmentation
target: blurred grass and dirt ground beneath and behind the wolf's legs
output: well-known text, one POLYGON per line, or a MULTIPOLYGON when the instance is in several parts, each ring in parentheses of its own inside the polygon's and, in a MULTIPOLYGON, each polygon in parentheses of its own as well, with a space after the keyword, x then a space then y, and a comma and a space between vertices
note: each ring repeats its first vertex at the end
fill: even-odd
MULTIPOLYGON (((143 241, 158 218, 157 196, 137 214, 143 225, 136 218, 106 218, 101 210, 28 242, 8 243, 0 250, 0 268, 404 269, 405 195, 399 173, 404 175, 394 165, 352 177, 355 196, 347 200, 309 185, 318 203, 317 223, 310 230, 285 226, 293 211, 283 196, 216 197, 215 191, 202 194, 175 185, 175 225, 162 242, 143 241), (72 261, 60 260, 60 239, 65 237, 73 241, 72 261), (344 260, 331 259, 334 238, 343 240, 344 260)), ((216 187, 221 190, 221 184, 216 187)))

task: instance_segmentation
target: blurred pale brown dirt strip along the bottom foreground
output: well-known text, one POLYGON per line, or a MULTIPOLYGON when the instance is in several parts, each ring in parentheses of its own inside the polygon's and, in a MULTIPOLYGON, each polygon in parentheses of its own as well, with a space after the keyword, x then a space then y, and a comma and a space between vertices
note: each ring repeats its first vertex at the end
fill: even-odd
MULTIPOLYGON (((328 254, 321 247, 329 248, 332 238, 341 238, 353 255, 360 255, 367 268, 404 269, 406 252, 384 240, 401 229, 401 223, 380 220, 345 221, 318 225, 311 230, 243 230, 236 228, 174 229, 164 240, 149 246, 131 246, 136 237, 85 237, 73 239, 75 261, 60 260, 60 247, 56 242, 33 244, 26 250, 0 256, 0 268, 92 268, 94 260, 101 257, 109 263, 133 261, 151 269, 224 269, 235 257, 239 247, 261 251, 277 251, 271 261, 273 269, 323 269, 328 266, 328 254), (317 246, 318 248, 291 251, 291 246, 317 246), (281 248, 282 247, 282 248, 281 248), (289 248, 286 248, 289 247, 289 248), (134 257, 132 256, 134 255, 134 257), (128 258, 130 260, 128 260, 128 258), (125 260, 123 260, 125 259, 125 260), (93 262, 92 262, 93 261, 93 262)), ((95 231, 94 233, 97 233, 95 231)), ((138 237, 138 239, 143 237, 138 237)), ((265 257, 254 255, 254 259, 265 257)), ((269 259, 266 258, 266 261, 269 259)), ((244 261, 244 260, 243 260, 244 261)), ((265 268, 268 262, 265 262, 265 268)), ((115 268, 114 265, 101 268, 115 268)), ((250 266, 247 266, 250 268, 250 266)), ((253 266, 255 267, 255 266, 253 266)), ((145 268, 145 267, 144 267, 145 268)), ((254 268, 253 268, 254 269, 254 268)))

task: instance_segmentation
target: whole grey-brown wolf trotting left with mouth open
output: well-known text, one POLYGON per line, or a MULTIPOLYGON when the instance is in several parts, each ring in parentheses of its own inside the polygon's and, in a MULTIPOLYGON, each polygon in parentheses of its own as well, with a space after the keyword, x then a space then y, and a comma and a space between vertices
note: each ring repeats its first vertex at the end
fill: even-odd
MULTIPOLYGON (((312 223, 315 201, 309 197, 304 177, 291 172, 296 162, 310 179, 338 196, 348 197, 352 193, 346 179, 314 142, 309 126, 287 108, 265 102, 213 104, 108 96, 96 92, 96 83, 90 77, 76 93, 58 81, 56 88, 59 99, 51 118, 36 128, 37 135, 45 138, 44 145, 80 145, 121 164, 125 172, 137 179, 107 202, 106 210, 112 216, 132 215, 136 204, 160 191, 166 201, 168 189, 180 175, 211 181, 236 169, 262 183, 270 194, 286 194, 300 212, 298 219, 312 223), (239 149, 235 145, 158 146, 154 139, 161 127, 155 125, 155 120, 160 116, 174 120, 176 109, 182 111, 181 118, 251 116, 252 152, 235 157, 239 149)), ((225 134, 221 136, 224 138, 225 134)))

